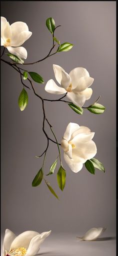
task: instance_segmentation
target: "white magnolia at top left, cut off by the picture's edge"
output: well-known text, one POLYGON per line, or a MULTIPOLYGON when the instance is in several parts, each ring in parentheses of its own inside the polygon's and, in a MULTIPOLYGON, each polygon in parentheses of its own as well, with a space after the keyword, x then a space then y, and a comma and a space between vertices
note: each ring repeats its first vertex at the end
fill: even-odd
POLYGON ((28 31, 28 26, 22 21, 16 21, 9 25, 5 17, 1 17, 1 45, 20 58, 27 58, 27 51, 20 46, 25 42, 32 32, 28 31), (20 46, 20 47, 19 47, 20 46))

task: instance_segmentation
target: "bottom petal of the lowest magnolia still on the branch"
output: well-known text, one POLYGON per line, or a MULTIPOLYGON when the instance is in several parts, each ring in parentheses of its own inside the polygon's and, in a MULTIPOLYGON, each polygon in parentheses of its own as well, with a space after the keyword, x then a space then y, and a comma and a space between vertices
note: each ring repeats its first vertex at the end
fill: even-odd
POLYGON ((64 153, 64 160, 66 161, 67 165, 69 166, 69 168, 73 171, 73 172, 78 172, 79 170, 82 169, 82 162, 81 162, 81 159, 79 159, 78 157, 78 161, 74 161, 74 159, 70 159, 66 153, 64 153))

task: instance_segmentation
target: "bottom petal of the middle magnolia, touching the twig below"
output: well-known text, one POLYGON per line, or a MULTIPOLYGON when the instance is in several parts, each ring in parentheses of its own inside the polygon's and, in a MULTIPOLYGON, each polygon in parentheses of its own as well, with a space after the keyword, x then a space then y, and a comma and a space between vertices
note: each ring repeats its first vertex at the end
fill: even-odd
POLYGON ((85 103, 85 96, 81 95, 79 92, 67 92, 66 96, 71 100, 71 102, 80 107, 85 103))

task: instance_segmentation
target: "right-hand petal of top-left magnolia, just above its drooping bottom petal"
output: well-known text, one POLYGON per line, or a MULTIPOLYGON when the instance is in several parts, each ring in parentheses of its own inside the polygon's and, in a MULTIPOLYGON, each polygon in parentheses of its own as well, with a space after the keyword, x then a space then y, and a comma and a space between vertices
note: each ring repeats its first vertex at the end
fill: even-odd
POLYGON ((22 31, 18 34, 18 36, 11 35, 11 45, 12 46, 20 46, 22 45, 30 36, 32 32, 30 31, 22 31))

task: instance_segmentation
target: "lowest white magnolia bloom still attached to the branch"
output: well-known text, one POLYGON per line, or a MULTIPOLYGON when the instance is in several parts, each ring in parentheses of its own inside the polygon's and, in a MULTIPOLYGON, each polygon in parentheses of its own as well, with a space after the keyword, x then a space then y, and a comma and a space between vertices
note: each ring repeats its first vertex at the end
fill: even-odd
POLYGON ((96 154, 96 145, 92 140, 94 132, 86 126, 70 122, 61 140, 64 160, 74 172, 81 170, 83 163, 96 154))

